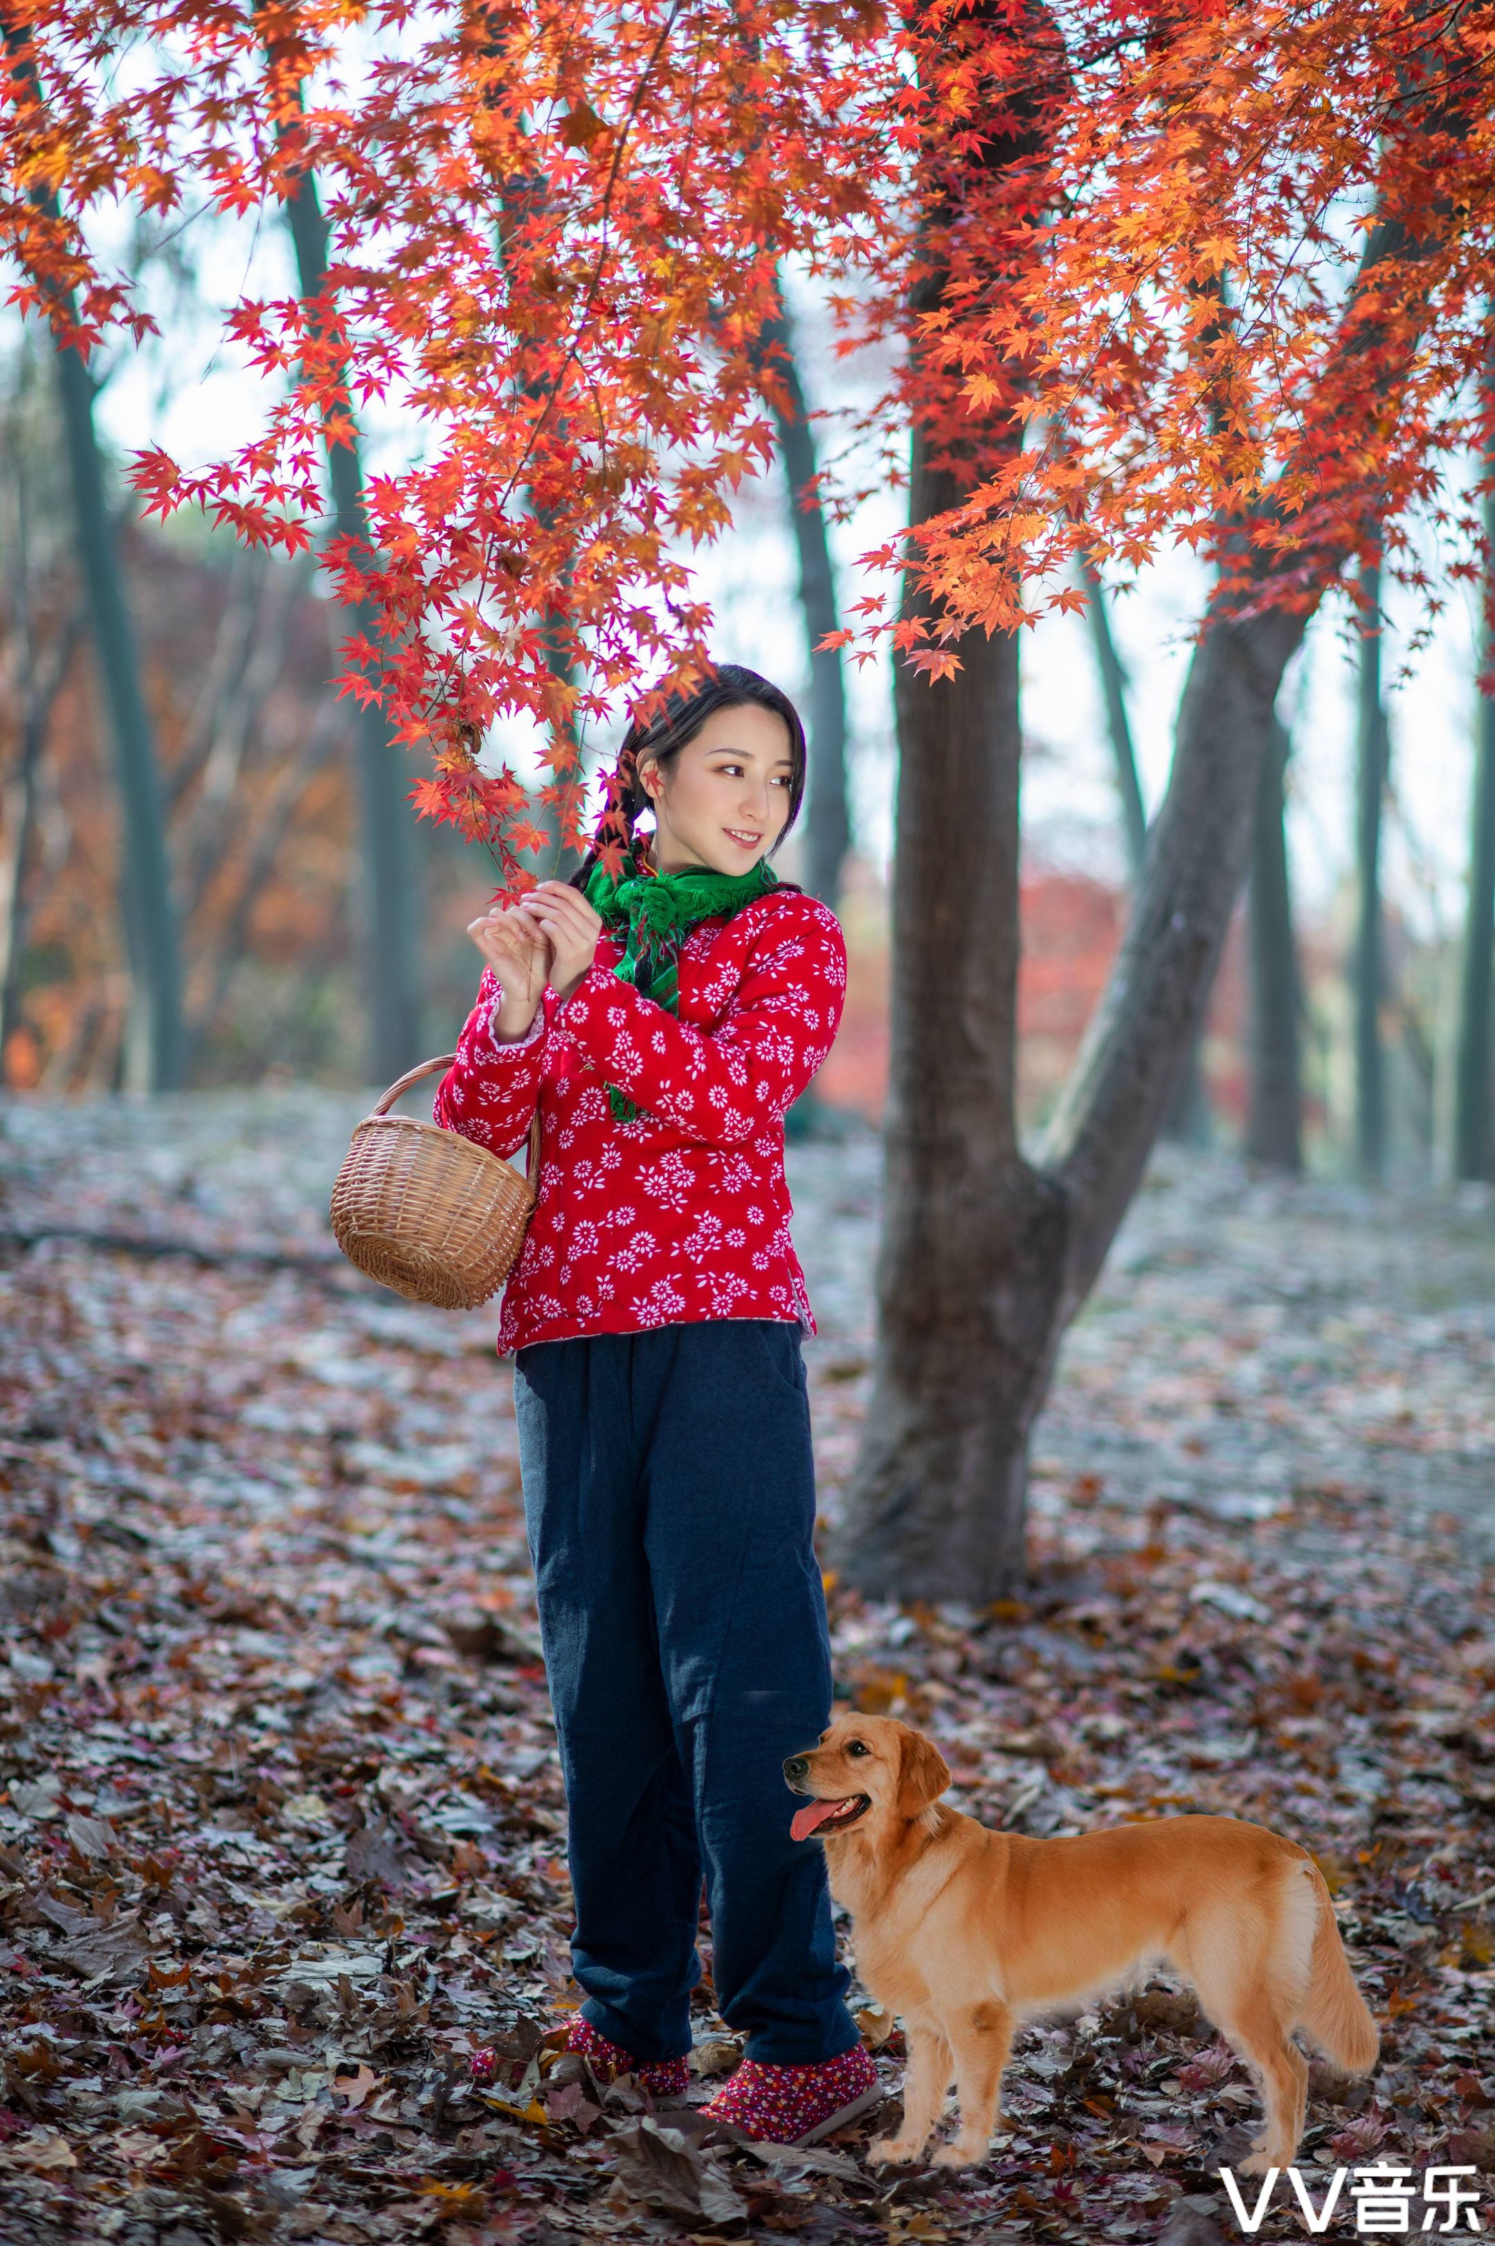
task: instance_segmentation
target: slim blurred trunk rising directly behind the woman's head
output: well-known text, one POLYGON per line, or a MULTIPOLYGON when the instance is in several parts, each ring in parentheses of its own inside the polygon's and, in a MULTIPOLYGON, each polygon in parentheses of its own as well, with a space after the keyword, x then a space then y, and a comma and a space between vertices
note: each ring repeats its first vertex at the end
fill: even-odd
POLYGON ((842 865, 851 849, 846 811, 846 681, 837 647, 819 642, 840 631, 835 609, 835 573, 826 510, 819 503, 815 476, 815 429, 806 409, 804 382, 795 357, 795 326, 779 294, 779 314, 759 335, 759 357, 772 368, 768 404, 779 427, 779 451, 790 494, 790 521, 799 550, 799 606, 810 642, 810 802, 806 813, 806 889, 835 905, 842 894, 842 865))

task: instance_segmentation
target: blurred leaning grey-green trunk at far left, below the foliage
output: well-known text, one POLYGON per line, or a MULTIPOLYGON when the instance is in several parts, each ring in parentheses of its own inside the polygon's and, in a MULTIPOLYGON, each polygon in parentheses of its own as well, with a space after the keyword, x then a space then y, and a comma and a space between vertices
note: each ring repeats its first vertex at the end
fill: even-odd
MULTIPOLYGON (((72 312, 72 305, 67 310, 72 312)), ((132 1092, 175 1092, 186 1047, 155 734, 139 678, 119 541, 103 499, 94 382, 70 346, 56 346, 56 377, 67 433, 79 566, 119 782, 119 910, 130 961, 123 1083, 132 1092)))

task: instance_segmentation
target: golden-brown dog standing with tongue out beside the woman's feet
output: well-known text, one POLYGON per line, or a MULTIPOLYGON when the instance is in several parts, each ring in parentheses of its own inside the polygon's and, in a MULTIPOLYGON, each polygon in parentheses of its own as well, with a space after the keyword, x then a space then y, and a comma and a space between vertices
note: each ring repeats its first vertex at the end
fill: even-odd
POLYGON ((1376 2021, 1356 1988, 1318 1864, 1235 1817, 1161 1817, 1073 1839, 992 1833, 938 1797, 938 1750, 889 1716, 842 1716, 783 1777, 813 1806, 795 1839, 826 1844, 862 1981, 909 2033, 902 2129, 873 2161, 916 2161, 954 2075, 961 2134, 934 2154, 983 2161, 1019 2019, 1170 1963, 1259 2078, 1266 2129, 1244 2174, 1288 2167, 1302 2136, 1304 2028, 1356 2073, 1376 2021))

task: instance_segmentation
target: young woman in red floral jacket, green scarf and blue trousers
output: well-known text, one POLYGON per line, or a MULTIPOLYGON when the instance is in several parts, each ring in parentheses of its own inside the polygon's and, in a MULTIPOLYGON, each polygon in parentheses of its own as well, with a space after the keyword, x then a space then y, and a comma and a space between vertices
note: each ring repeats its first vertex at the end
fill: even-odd
POLYGON ((783 1112, 831 1051, 846 950, 768 865, 804 764, 792 703, 736 665, 635 725, 622 880, 593 851, 471 923, 487 970, 435 1103, 498 1154, 541 1114, 498 1350, 570 1813, 570 2048, 685 2093, 705 1878, 716 2006, 748 2037, 707 2111, 777 2143, 878 2096, 781 1768, 831 1720, 783 1112))

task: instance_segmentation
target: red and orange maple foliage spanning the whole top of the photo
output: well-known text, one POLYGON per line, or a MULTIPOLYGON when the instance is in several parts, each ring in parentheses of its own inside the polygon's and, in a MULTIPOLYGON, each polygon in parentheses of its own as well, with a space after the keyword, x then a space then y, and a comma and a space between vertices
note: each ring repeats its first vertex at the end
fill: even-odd
POLYGON ((970 627, 1073 604, 1075 553, 1134 568, 1165 537, 1246 602, 1264 570, 1313 602, 1365 548, 1372 485, 1387 566, 1425 591, 1419 510, 1475 539, 1446 467, 1488 418, 1491 11, 1071 0, 1037 43, 1028 16, 7 0, 0 231, 18 301, 65 323, 74 292, 97 344, 148 323, 90 243, 97 209, 191 191, 245 213, 314 171, 319 299, 229 317, 274 377, 263 429, 191 472, 155 449, 137 485, 301 548, 323 427, 373 398, 424 427, 370 478, 366 539, 330 546, 377 627, 348 681, 433 741, 420 809, 523 885, 534 809, 577 840, 577 730, 707 654, 687 550, 770 460, 754 344, 786 254, 849 348, 916 346, 866 416, 889 472, 911 411, 965 463, 956 503, 873 557, 938 618, 873 586, 860 654, 887 631, 947 674, 970 627), (990 141, 1035 88, 1044 162, 974 166, 934 220, 920 164, 990 141), (1351 285, 1372 222, 1398 247, 1351 285), (974 438, 1024 424, 1024 447, 974 438), (476 761, 503 712, 550 732, 539 806, 476 761))

